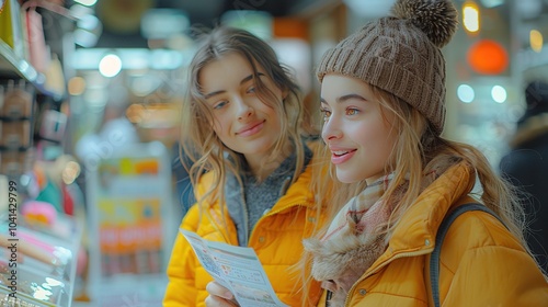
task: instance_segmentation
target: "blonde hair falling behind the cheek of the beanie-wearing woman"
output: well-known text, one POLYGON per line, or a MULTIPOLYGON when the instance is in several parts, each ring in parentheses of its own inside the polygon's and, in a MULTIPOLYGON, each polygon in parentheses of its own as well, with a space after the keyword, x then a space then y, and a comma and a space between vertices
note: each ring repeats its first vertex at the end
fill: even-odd
POLYGON ((487 157, 471 145, 438 136, 416 109, 389 92, 372 88, 381 107, 396 114, 397 120, 393 125, 399 132, 399 138, 389 157, 389 161, 395 161, 392 170, 395 180, 385 197, 390 198, 396 187, 403 183, 406 175, 409 178, 409 187, 390 217, 389 229, 393 229, 402 214, 422 193, 421 179, 424 177, 424 170, 430 169, 430 166, 443 157, 452 157, 454 163, 465 162, 476 171, 481 187, 477 192, 478 198, 496 213, 512 235, 527 248, 524 236, 525 213, 515 187, 496 174, 487 157))

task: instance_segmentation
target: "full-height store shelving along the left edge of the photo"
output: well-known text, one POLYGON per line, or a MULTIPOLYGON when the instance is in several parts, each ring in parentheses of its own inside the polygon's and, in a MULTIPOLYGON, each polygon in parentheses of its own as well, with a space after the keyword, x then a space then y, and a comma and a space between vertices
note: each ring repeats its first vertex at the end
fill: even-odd
POLYGON ((32 41, 19 1, 0 1, 0 182, 16 187, 9 198, 2 194, 9 209, 0 211, 0 306, 69 307, 81 229, 62 213, 47 224, 27 220, 20 211, 27 201, 23 178, 34 163, 36 98, 59 101, 64 94, 49 90, 27 58, 32 41))

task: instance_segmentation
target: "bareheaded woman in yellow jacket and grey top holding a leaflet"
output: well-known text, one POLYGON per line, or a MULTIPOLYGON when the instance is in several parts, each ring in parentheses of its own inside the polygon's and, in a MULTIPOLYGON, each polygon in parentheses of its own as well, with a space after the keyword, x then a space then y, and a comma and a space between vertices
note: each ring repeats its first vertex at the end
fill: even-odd
MULTIPOLYGON (((194 161, 197 203, 181 228, 253 248, 282 302, 316 305, 319 283, 304 291, 289 270, 301 257, 301 240, 321 221, 296 83, 265 42, 230 27, 205 35, 189 69, 181 144, 194 161)), ((205 306, 213 278, 181 235, 168 276, 163 306, 205 306)))

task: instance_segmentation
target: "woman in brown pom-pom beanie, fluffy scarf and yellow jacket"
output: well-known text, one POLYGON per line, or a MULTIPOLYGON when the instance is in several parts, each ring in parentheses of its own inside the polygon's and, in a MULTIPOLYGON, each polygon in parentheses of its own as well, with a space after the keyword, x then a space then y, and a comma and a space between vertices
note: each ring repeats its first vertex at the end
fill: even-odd
POLYGON ((320 61, 322 138, 340 186, 338 213, 305 249, 328 306, 548 306, 513 187, 478 149, 441 136, 441 48, 456 26, 449 0, 398 0, 320 61), (467 203, 493 214, 454 220, 431 280, 441 223, 467 203))

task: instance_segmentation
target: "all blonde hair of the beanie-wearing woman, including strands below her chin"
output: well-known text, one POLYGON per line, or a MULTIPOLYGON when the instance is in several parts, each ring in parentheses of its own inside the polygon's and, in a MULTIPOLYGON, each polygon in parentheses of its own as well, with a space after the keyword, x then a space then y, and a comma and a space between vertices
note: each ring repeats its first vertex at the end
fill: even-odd
MULTIPOLYGON (((395 227, 402 215, 413 205, 420 193, 424 170, 438 162, 444 157, 452 157, 454 163, 466 162, 476 170, 477 178, 481 184, 478 198, 494 213, 529 251, 525 241, 525 213, 518 202, 515 187, 499 177, 486 156, 473 146, 448 140, 438 136, 431 124, 416 109, 406 103, 396 95, 377 87, 370 87, 375 98, 378 99, 380 107, 386 113, 393 113, 396 118, 390 123, 398 132, 398 138, 393 150, 388 158, 386 172, 393 172, 395 177, 384 194, 384 198, 390 200, 397 192, 397 187, 408 182, 408 190, 399 197, 400 200, 390 215, 386 229, 387 238, 390 238, 395 227)), ((322 143, 318 156, 322 159, 331 152, 322 143)), ((328 159, 329 160, 329 159, 328 159)), ((334 217, 346 202, 366 187, 366 182, 342 183, 336 179, 334 167, 330 164, 329 175, 315 178, 318 208, 328 211, 330 217, 334 217)), ((321 237, 329 227, 327 223, 315 236, 321 237)), ((312 257, 305 251, 301 262, 298 264, 305 283, 311 282, 310 265, 312 257)), ((306 289, 306 287, 304 287, 306 289)), ((304 304, 305 305, 305 304, 304 304)))

